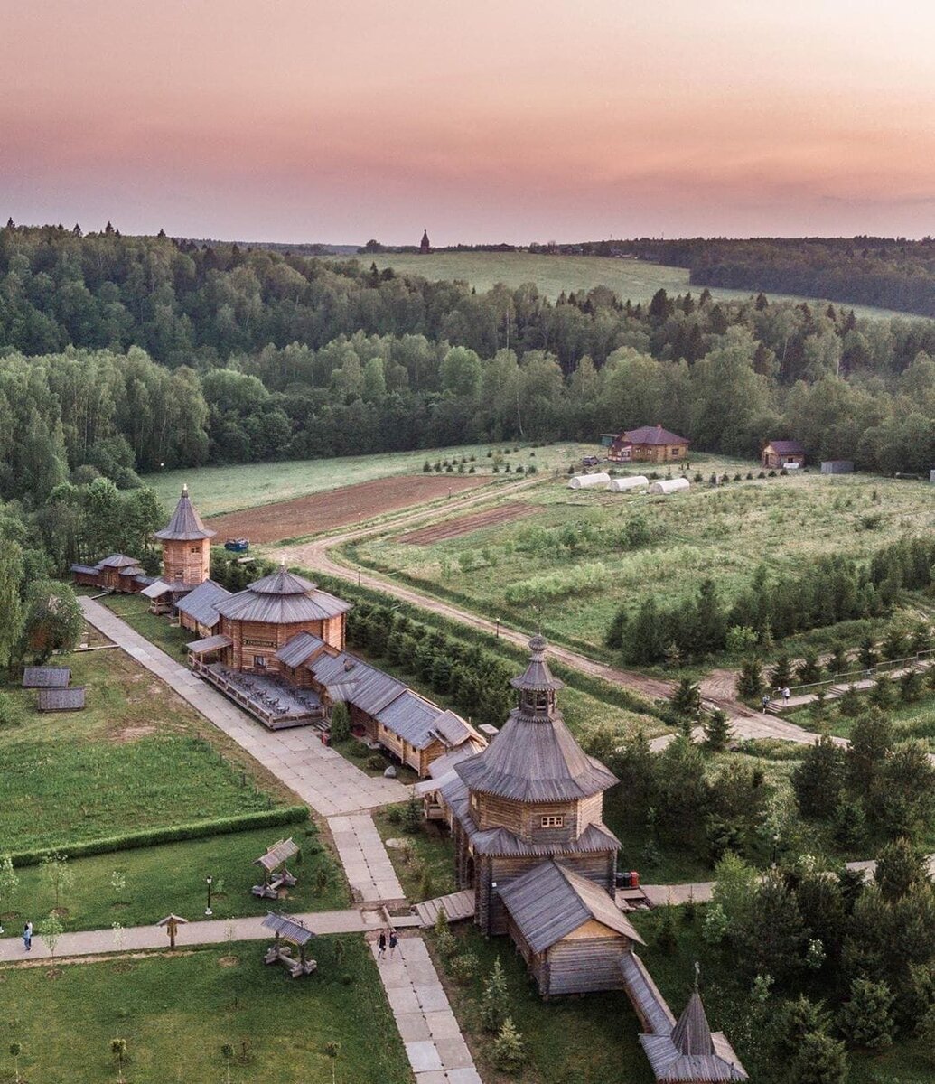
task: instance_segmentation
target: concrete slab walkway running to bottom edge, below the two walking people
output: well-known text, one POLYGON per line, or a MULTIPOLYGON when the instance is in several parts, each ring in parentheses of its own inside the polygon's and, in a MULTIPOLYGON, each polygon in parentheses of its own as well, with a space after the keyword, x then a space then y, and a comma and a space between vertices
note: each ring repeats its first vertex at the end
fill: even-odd
POLYGON ((376 967, 417 1084, 483 1084, 422 938, 400 940, 376 967))

